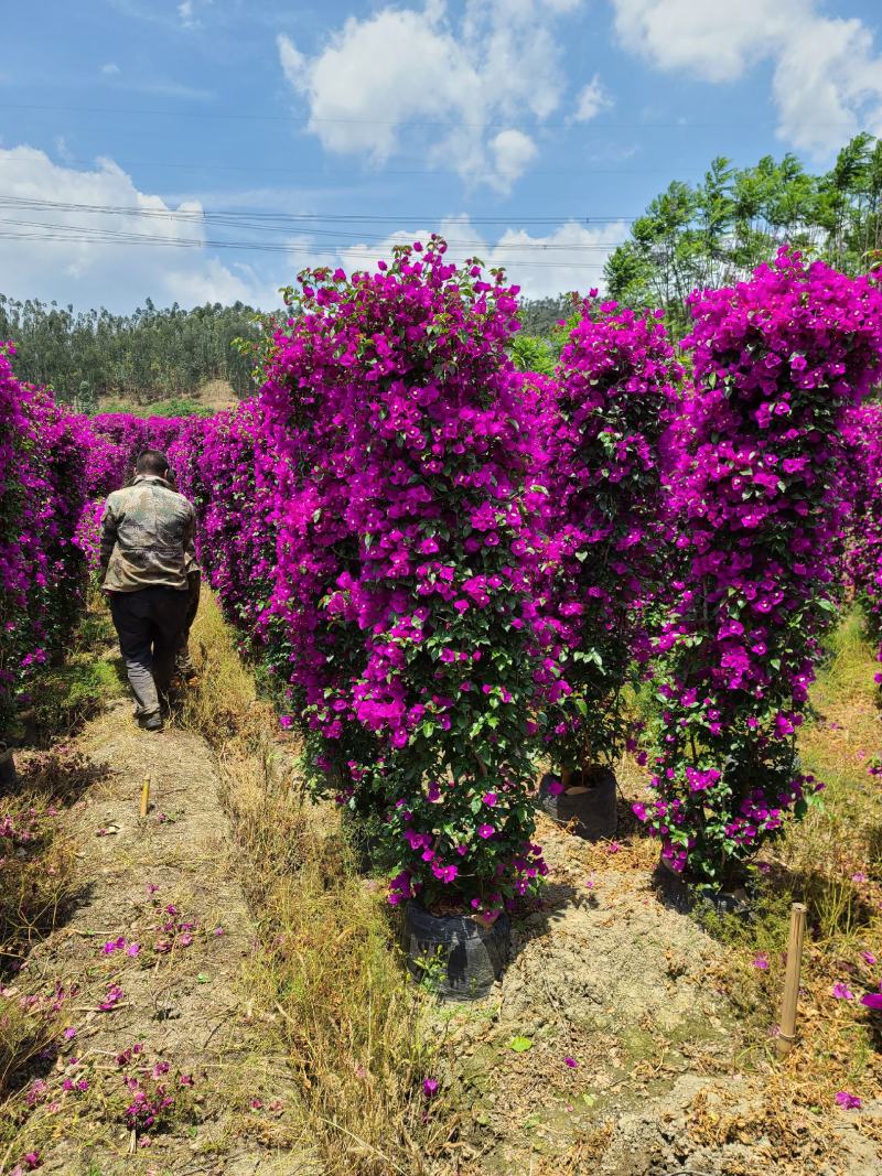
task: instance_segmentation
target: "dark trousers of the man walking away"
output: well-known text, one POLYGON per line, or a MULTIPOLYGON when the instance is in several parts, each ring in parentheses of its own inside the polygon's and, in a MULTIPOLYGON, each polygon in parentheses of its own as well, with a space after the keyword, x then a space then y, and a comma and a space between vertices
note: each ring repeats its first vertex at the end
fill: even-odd
POLYGON ((142 717, 156 714, 168 690, 187 620, 189 593, 141 588, 107 594, 132 693, 142 717))

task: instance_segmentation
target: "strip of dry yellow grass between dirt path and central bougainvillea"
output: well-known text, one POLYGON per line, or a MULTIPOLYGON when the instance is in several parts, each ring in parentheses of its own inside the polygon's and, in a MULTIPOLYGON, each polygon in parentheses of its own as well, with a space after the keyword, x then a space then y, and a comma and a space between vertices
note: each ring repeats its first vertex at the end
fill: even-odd
POLYGON ((243 984, 287 1048, 303 1136, 323 1176, 423 1172, 445 1136, 422 1094, 433 1050, 382 896, 354 874, 336 814, 305 796, 296 748, 211 596, 193 636, 186 720, 215 748, 259 927, 243 984))

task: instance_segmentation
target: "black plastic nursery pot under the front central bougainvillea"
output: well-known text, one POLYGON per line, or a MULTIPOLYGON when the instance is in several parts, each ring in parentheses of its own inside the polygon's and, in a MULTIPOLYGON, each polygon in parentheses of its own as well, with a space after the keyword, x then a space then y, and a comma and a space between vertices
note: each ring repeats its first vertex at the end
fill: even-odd
POLYGON ((508 963, 512 923, 505 913, 489 927, 468 915, 430 915, 412 900, 405 908, 403 943, 416 980, 429 975, 443 1000, 477 1001, 508 963))

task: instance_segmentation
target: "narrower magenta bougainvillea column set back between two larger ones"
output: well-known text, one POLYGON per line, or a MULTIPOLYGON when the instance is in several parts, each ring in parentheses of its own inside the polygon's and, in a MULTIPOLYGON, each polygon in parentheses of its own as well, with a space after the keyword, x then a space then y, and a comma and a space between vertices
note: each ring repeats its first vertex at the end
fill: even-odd
POLYGON ((556 370, 543 620, 562 675, 549 751, 564 770, 617 757, 622 689, 647 660, 667 570, 660 442, 683 372, 660 319, 588 301, 556 370))

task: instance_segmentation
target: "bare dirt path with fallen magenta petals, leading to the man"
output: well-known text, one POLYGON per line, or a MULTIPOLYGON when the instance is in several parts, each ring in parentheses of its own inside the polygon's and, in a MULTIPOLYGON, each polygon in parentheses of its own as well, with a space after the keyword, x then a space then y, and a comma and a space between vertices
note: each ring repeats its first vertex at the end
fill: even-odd
POLYGON ((41 1170, 307 1171, 281 1125, 294 1117, 285 1058, 243 990, 254 926, 207 744, 174 728, 143 733, 119 701, 74 747, 95 776, 69 814, 83 897, 19 977, 29 991, 79 989, 65 1009, 62 1056, 47 1089, 40 1080, 35 1088, 29 1125, 46 1141, 41 1170), (151 1105, 133 1131, 126 1109, 139 1098, 151 1105), (148 1122, 156 1107, 166 1129, 148 1122))

